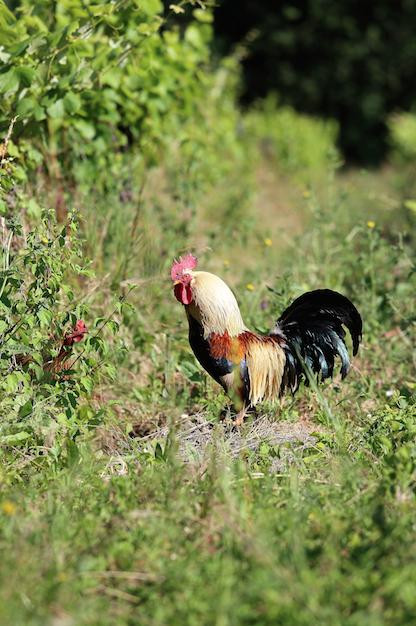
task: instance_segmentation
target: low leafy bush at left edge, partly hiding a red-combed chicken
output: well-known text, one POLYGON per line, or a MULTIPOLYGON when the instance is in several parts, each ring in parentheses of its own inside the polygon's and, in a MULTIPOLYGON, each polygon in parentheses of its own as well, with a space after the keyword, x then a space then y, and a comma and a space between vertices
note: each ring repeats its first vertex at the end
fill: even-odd
MULTIPOLYGON (((11 129, 10 129, 11 130, 11 129)), ((9 133, 10 134, 10 133, 9 133)), ((15 163, 0 155, 3 206, 23 203, 16 195, 15 163)), ((29 202, 29 200, 26 201, 29 202)), ((80 281, 91 272, 81 261, 82 239, 76 215, 57 225, 55 212, 36 203, 30 211, 1 218, 0 269, 0 446, 24 446, 59 455, 67 441, 97 425, 104 411, 92 401, 99 378, 112 376, 103 340, 112 319, 93 320, 79 296, 80 281), (39 212, 39 214, 38 214, 39 212), (77 322, 86 320, 88 338, 71 345, 77 322), (78 349, 77 349, 78 348, 78 349)), ((122 304, 117 309, 121 311, 122 304)))

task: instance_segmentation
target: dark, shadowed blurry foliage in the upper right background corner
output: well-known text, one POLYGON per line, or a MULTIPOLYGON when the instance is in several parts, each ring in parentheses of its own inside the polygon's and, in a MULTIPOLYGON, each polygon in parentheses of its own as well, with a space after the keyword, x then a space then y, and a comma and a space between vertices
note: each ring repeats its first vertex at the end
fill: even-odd
POLYGON ((219 4, 223 50, 244 41, 245 102, 274 90, 283 104, 339 123, 347 157, 379 162, 386 118, 416 100, 414 0, 233 0, 219 4))

